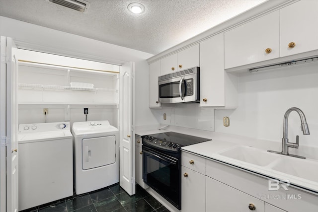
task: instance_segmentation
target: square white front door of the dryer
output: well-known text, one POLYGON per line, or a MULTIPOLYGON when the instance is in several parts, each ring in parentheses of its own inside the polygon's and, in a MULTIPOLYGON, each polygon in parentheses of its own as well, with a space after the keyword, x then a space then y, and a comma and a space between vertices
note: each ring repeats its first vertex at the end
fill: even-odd
POLYGON ((82 140, 82 169, 106 166, 116 161, 115 136, 82 140))

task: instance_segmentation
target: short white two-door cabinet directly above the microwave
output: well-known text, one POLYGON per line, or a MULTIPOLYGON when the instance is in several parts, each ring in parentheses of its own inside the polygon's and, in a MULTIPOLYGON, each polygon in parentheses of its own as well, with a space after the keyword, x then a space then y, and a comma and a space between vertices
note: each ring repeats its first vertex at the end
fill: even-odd
POLYGON ((161 59, 161 75, 200 66, 199 44, 161 59))

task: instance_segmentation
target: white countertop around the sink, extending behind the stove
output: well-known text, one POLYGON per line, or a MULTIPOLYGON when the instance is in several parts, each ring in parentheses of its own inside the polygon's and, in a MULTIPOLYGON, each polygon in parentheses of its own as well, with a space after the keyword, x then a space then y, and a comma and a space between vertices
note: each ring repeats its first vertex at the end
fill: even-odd
MULTIPOLYGON (((181 150, 194 153, 197 155, 201 155, 208 159, 221 161, 227 165, 231 165, 233 167, 240 168, 242 170, 247 170, 255 174, 260 174, 262 176, 267 176, 268 178, 281 179, 281 180, 288 179, 292 186, 318 195, 318 180, 316 182, 316 181, 300 178, 297 176, 293 176, 290 174, 273 170, 269 166, 254 165, 251 163, 247 163, 244 161, 240 161, 240 160, 233 159, 231 157, 227 157, 227 156, 219 154, 220 152, 225 151, 226 149, 234 148, 235 146, 252 146, 252 148, 257 148, 259 151, 263 151, 263 152, 267 152, 268 149, 280 151, 281 142, 263 141, 259 139, 247 138, 242 136, 228 135, 228 134, 195 130, 195 129, 189 129, 189 128, 181 128, 181 127, 175 127, 175 126, 168 126, 164 129, 158 130, 159 127, 160 126, 156 126, 155 128, 154 126, 152 128, 148 127, 147 129, 139 128, 136 130, 135 133, 140 136, 145 136, 145 135, 164 133, 164 132, 170 131, 170 132, 183 133, 186 135, 212 139, 212 141, 206 141, 202 143, 184 146, 181 148, 181 150)), ((297 152, 298 155, 306 156, 307 157, 307 159, 305 159, 306 162, 310 162, 310 163, 312 162, 312 163, 318 164, 318 158, 317 158, 318 149, 316 147, 303 145, 303 146, 300 146, 300 148, 302 148, 301 149, 302 152, 300 153, 297 152), (308 152, 312 152, 312 154, 305 154, 308 152)), ((291 153, 294 153, 294 152, 291 152, 291 153)), ((275 153, 271 153, 271 154, 279 155, 275 153)), ((284 156, 284 155, 279 155, 279 157, 287 157, 292 160, 304 160, 304 159, 292 158, 290 156, 284 156)), ((311 172, 317 173, 318 169, 311 170, 311 172)))

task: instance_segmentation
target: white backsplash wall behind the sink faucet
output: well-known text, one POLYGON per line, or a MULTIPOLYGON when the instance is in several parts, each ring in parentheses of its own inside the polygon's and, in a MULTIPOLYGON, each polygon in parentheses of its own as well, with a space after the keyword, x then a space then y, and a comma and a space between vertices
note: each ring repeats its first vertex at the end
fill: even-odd
POLYGON ((300 130, 296 112, 289 116, 288 138, 302 145, 318 146, 318 63, 246 73, 238 78, 239 107, 215 111, 215 132, 281 142, 287 109, 300 108, 306 115, 309 136, 300 130), (230 117, 230 127, 223 117, 230 117))

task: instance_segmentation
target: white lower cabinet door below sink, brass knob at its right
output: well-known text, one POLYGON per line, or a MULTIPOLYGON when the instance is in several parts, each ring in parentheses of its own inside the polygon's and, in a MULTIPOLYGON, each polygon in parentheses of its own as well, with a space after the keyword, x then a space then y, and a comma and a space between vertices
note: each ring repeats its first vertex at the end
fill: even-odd
POLYGON ((206 177, 207 212, 250 212, 250 204, 255 207, 254 212, 264 212, 263 201, 206 177))

